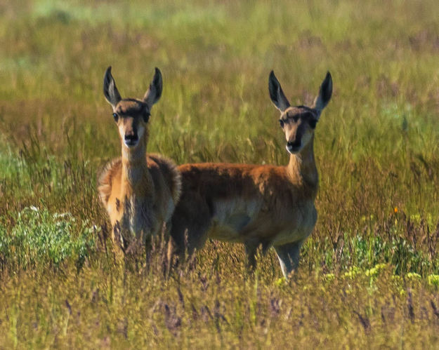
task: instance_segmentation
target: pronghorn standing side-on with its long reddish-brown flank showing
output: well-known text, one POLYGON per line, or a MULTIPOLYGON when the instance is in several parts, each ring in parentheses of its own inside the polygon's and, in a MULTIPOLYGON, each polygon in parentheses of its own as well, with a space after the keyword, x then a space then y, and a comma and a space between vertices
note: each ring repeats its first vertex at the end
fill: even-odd
POLYGON ((314 129, 332 95, 329 72, 312 107, 291 107, 270 73, 270 97, 280 110, 287 139, 287 166, 199 163, 178 167, 182 194, 171 220, 178 250, 192 253, 207 238, 241 242, 254 267, 259 245, 274 247, 285 277, 299 264, 303 241, 317 220, 314 129))

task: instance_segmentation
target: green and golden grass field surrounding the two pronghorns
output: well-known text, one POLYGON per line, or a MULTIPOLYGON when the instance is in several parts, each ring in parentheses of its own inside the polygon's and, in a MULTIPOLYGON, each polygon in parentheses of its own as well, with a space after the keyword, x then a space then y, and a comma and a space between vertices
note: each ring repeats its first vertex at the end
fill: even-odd
POLYGON ((438 346, 437 1, 11 0, 0 47, 1 349, 438 346), (286 164, 270 70, 294 104, 332 73, 291 281, 215 241, 173 269, 161 241, 114 262, 108 65, 122 97, 162 70, 148 150, 176 163, 286 164))

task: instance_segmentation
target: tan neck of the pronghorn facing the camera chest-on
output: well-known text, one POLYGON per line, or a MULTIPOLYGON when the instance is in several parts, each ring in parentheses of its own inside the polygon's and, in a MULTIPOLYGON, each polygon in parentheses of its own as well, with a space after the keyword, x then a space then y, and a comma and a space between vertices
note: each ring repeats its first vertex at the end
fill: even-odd
POLYGON ((146 145, 140 142, 136 149, 129 149, 122 144, 122 191, 124 196, 143 197, 150 189, 152 179, 146 161, 146 145))

